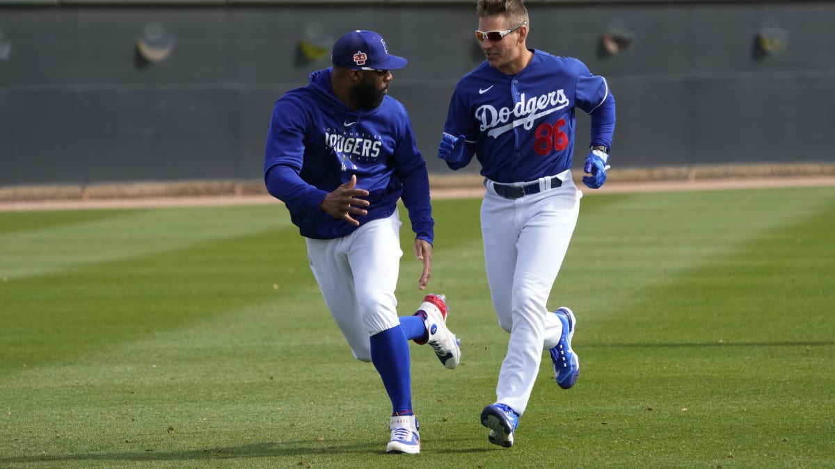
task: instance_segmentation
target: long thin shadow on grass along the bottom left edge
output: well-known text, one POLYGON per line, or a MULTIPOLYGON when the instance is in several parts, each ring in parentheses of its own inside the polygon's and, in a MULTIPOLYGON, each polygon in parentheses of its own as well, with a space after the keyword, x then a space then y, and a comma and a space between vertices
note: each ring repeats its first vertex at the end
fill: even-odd
MULTIPOLYGON (((490 448, 484 448, 488 450, 490 448)), ((479 452, 479 448, 459 449, 452 452, 479 452)), ((438 451, 444 452, 444 451, 438 451)), ((317 441, 262 442, 222 448, 205 448, 191 451, 144 451, 102 452, 66 455, 38 455, 0 457, 0 466, 13 463, 61 462, 61 461, 193 461, 220 460, 250 457, 310 457, 317 455, 341 454, 386 454, 379 442, 360 444, 326 445, 317 441)))

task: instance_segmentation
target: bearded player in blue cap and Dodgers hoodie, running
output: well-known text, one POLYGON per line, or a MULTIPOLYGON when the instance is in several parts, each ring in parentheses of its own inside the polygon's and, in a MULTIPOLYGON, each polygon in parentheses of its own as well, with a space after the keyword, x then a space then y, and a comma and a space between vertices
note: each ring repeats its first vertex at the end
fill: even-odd
POLYGON ((429 281, 434 221, 426 162, 406 108, 388 96, 392 70, 379 34, 357 30, 334 44, 333 67, 276 101, 266 139, 266 188, 281 199, 306 240, 311 270, 353 356, 371 361, 392 401, 387 452, 420 451, 407 340, 428 343, 444 366, 461 359, 446 326, 443 295, 426 295, 398 317, 394 295, 402 250, 397 200, 415 232, 429 281))

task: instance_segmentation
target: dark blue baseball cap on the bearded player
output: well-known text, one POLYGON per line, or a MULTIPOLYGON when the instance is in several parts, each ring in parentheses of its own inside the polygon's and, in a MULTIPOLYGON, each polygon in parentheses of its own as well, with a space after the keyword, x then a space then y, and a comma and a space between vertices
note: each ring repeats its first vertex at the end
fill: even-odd
POLYGON ((357 29, 337 39, 331 52, 331 63, 358 70, 397 70, 408 61, 388 53, 386 41, 373 31, 357 29))

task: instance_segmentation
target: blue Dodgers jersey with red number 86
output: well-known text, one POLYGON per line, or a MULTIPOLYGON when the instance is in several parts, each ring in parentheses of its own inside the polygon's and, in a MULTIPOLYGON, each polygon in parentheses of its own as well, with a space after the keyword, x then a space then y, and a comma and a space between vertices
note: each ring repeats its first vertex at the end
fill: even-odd
POLYGON ((559 174, 571 168, 574 108, 592 113, 607 99, 610 122, 593 125, 591 140, 611 146, 614 97, 605 78, 576 58, 532 52, 528 66, 515 75, 485 61, 458 80, 443 131, 463 135, 467 144, 463 159, 448 163, 451 169, 469 164, 474 153, 481 174, 498 183, 559 174))

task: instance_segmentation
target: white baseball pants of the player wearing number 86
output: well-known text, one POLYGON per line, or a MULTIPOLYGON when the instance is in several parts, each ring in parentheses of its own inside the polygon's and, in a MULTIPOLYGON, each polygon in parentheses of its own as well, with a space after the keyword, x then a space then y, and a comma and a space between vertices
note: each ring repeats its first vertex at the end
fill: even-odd
POLYGON ((568 250, 583 193, 570 171, 563 185, 519 199, 505 199, 488 183, 481 230, 493 308, 510 333, 496 386, 496 401, 521 415, 528 406, 543 350, 559 342, 562 323, 548 310, 554 280, 568 250))

